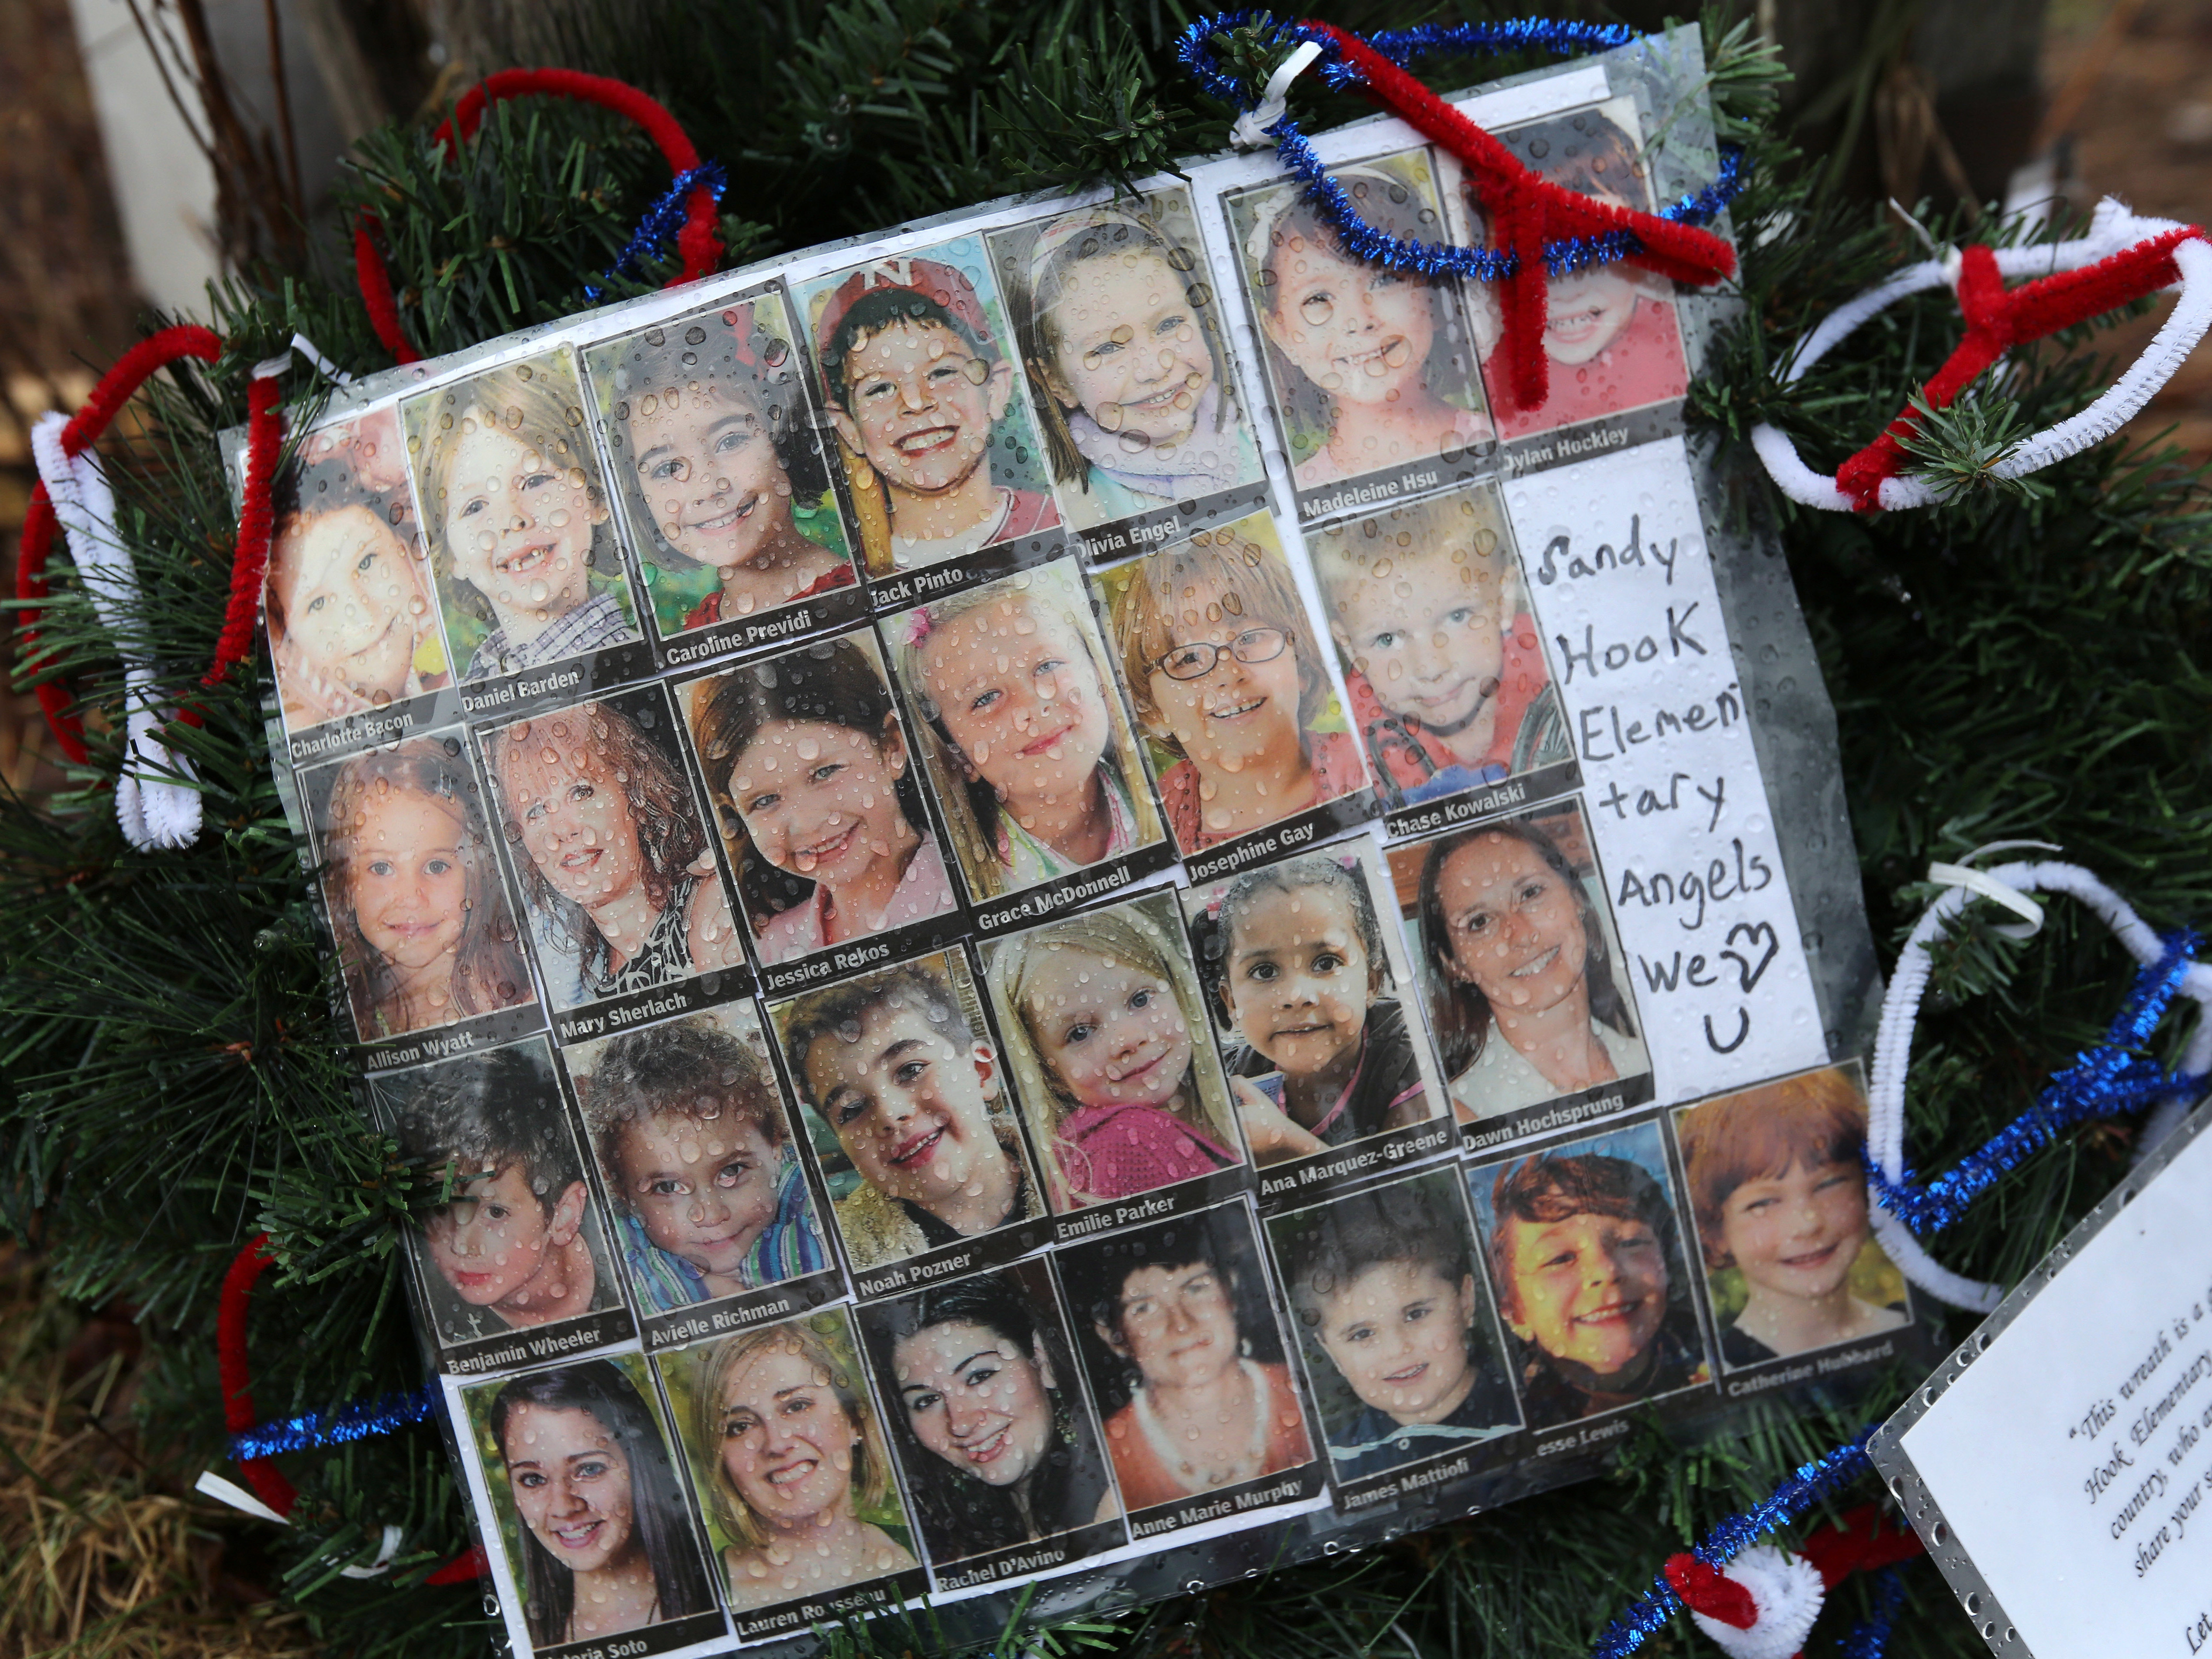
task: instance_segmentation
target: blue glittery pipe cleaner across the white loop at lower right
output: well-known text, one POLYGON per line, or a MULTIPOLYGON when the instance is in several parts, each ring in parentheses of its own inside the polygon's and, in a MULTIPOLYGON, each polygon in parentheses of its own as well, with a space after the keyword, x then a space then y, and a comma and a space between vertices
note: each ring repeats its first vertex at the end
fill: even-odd
POLYGON ((1869 1161, 1867 1179, 1882 1208, 1893 1210, 1918 1234, 1942 1232, 2022 1159, 2039 1152, 2075 1124, 2086 1124, 2093 1117, 2121 1117, 2161 1099, 2201 1093, 2203 1077, 2170 1073, 2141 1053, 2199 949, 2203 949, 2203 940, 2197 933, 2188 929, 2170 933, 2159 960, 2135 975, 2135 987, 2119 1004, 2104 1042, 2075 1055, 2066 1071, 2051 1077, 2051 1086, 2037 1095, 2028 1110, 1997 1130, 1980 1150, 1960 1159, 1955 1168, 1944 1170, 1927 1186, 1916 1186, 1911 1177, 1889 1181, 1869 1161))

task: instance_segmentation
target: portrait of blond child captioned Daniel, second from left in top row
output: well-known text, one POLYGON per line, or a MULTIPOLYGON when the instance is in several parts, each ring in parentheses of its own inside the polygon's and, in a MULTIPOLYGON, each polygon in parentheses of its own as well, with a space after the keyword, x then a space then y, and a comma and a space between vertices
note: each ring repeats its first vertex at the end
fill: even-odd
POLYGON ((568 347, 400 405, 460 679, 639 639, 568 347))

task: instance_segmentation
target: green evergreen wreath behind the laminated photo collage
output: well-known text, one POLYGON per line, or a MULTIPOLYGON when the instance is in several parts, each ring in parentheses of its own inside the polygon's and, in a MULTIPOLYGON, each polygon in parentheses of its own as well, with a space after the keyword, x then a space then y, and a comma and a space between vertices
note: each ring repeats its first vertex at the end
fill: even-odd
MULTIPOLYGON (((732 257, 1006 188, 1159 170, 1214 148, 1230 117, 1183 86, 1159 13, 854 2, 814 18, 807 38, 785 27, 670 4, 575 44, 580 66, 646 86, 703 155, 726 161, 732 257)), ((1263 29, 1223 51, 1245 58, 1250 84, 1281 55, 1263 29)), ((1878 931, 1909 929, 1931 891, 1920 883, 1931 858, 2004 836, 2059 843, 2159 925, 2201 920, 2212 914, 2201 719, 2212 557, 2197 476, 2121 440, 2033 478, 1991 465, 2108 378, 2084 327, 2022 345, 2002 387, 1931 411, 1902 438, 1918 471, 1953 487, 1942 509, 1829 515, 1778 495, 1752 453, 1756 425, 1790 434, 1807 465, 1832 471, 1851 434, 1880 431, 1898 389, 1940 367, 1955 321, 1949 294, 1907 299, 1803 378, 1776 378, 1790 345, 1896 270, 1905 248, 1887 217, 1807 184, 1787 142, 1763 126, 1778 71, 1745 31, 1710 27, 1708 60, 1721 135, 1752 161, 1736 223, 1759 232, 1743 237, 1743 323, 1692 387, 1690 411, 1719 449, 1732 511, 1772 526, 1787 551, 1838 712, 1878 931)), ((1498 64, 1429 71, 1455 84, 1498 64)), ((1294 100, 1312 95, 1301 86, 1294 100)), ((1358 113, 1340 95, 1301 106, 1307 128, 1358 113)), ((438 354, 575 312, 593 285, 622 296, 672 276, 672 241, 637 263, 637 281, 606 274, 635 252, 633 232, 666 184, 661 157, 602 113, 502 104, 469 144, 440 144, 431 122, 365 139, 347 226, 374 217, 394 316, 416 349, 438 354)), ((210 310, 228 349, 153 380, 144 434, 111 447, 137 615, 111 630, 64 568, 44 599, 33 677, 62 688, 84 719, 75 787, 0 803, 0 1228, 44 1248, 55 1290, 128 1301, 155 1334, 148 1444, 175 1458, 186 1484, 228 1455, 212 1332, 239 1248, 265 1230, 276 1259, 257 1292, 259 1413, 332 1411, 418 1380, 394 1245, 409 1206, 425 1201, 347 1091, 330 969, 259 719, 263 670, 239 664, 221 686, 192 690, 226 624, 237 538, 215 434, 246 418, 254 365, 294 334, 347 372, 385 367, 392 354, 358 296, 349 241, 323 279, 248 276, 210 294, 210 310), (128 732, 119 650, 157 664, 170 703, 197 697, 204 708, 201 726, 170 728, 204 783, 206 830, 184 852, 133 852, 115 823, 108 792, 128 732)), ((316 372, 294 358, 285 396, 312 398, 314 387, 316 372)), ((18 672, 31 672, 24 657, 18 672)), ((1911 1139, 1929 1168, 1978 1148, 2093 1046, 2130 973, 2099 927, 2055 914, 2022 953, 1984 909, 1966 909, 1931 945, 1938 1006, 1909 1088, 1911 1139)), ((2024 1164, 1949 1234, 1947 1261, 1975 1279, 2017 1279, 2112 1186, 2128 1139, 2126 1124, 2104 1124, 2024 1164)), ((1767 1500, 1787 1471, 1847 1442, 1916 1383, 1900 1374, 1887 1398, 1776 1418, 1694 1453, 1639 1433, 1608 1480, 1360 1559, 1186 1597, 1128 1626, 1022 1641, 1223 1659, 1588 1652, 1661 1559, 1767 1500)), ((425 1584, 467 1546, 434 1433, 296 1453, 285 1473, 299 1500, 270 1546, 281 1593, 330 1648, 480 1650, 476 1590, 425 1584)), ((1803 1526, 1863 1495, 1838 1493, 1803 1526)), ((1902 1584, 1889 1652, 1980 1652, 1933 1573, 1905 1568, 1902 1584)), ((1876 1595, 1849 1579, 1836 1599, 1863 1617, 1876 1595)), ((1699 1641, 1686 1621, 1674 1628, 1679 1644, 1699 1641)), ((925 1639, 838 1637, 887 1650, 925 1639)))

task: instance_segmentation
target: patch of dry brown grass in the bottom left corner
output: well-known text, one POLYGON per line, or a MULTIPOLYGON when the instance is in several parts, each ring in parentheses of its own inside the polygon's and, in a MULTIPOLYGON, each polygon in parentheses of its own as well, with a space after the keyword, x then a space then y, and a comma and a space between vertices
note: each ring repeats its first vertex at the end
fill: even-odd
POLYGON ((316 1648, 226 1571, 232 1517, 148 1471, 128 1427, 135 1327, 40 1294, 0 1245, 0 1655, 292 1659, 316 1648))

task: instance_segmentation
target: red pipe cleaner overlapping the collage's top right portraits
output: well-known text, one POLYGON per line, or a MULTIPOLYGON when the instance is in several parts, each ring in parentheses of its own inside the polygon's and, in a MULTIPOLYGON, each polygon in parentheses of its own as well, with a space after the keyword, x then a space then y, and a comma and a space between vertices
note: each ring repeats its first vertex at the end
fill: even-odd
POLYGON ((1343 62, 1360 75, 1360 91, 1460 157, 1482 197, 1491 241, 1520 257, 1520 265, 1498 288, 1506 400, 1535 409, 1551 396, 1551 361, 1544 356, 1548 310, 1544 243, 1553 237, 1606 237, 1630 232, 1641 248, 1628 261, 1690 288, 1705 288, 1734 274, 1736 250, 1725 239, 1694 226, 1679 226, 1650 212, 1579 197, 1537 177, 1451 104, 1407 75, 1358 35, 1325 22, 1301 29, 1327 35, 1343 62))

